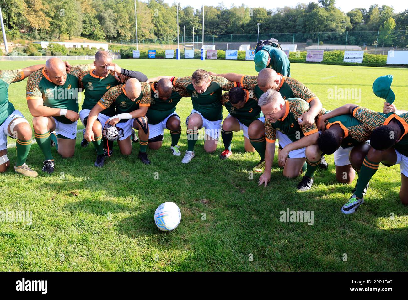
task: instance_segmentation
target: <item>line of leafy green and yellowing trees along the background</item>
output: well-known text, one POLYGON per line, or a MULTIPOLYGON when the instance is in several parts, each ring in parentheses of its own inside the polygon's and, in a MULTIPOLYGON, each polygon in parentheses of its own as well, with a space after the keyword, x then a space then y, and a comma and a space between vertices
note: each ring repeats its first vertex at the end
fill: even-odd
MULTIPOLYGON (((127 41, 135 38, 134 0, 0 0, 4 24, 11 39, 69 39, 81 36, 97 41, 127 41)), ((177 5, 163 0, 136 1, 137 31, 140 42, 168 43, 177 40, 177 5)), ((388 5, 371 5, 343 12, 335 0, 297 4, 273 10, 244 5, 204 7, 204 35, 237 35, 257 33, 326 32, 325 42, 344 42, 334 33, 356 32, 348 44, 367 38, 359 31, 381 31, 378 44, 406 47, 408 44, 408 9, 395 13, 388 5), (405 32, 404 32, 405 31, 405 32), (333 33, 333 34, 330 34, 333 33)), ((202 33, 202 10, 179 7, 180 36, 202 33)), ((367 33, 368 34, 368 33, 367 33)), ((305 34, 304 40, 315 38, 305 34)), ((375 41, 374 41, 375 40, 375 41)))

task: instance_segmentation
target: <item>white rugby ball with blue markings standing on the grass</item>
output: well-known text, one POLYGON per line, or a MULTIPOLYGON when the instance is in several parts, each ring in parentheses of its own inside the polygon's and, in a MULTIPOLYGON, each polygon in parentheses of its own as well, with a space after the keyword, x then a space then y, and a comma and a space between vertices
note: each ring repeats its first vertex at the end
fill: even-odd
POLYGON ((180 208, 174 202, 164 202, 154 213, 154 222, 161 231, 170 231, 180 224, 180 208))

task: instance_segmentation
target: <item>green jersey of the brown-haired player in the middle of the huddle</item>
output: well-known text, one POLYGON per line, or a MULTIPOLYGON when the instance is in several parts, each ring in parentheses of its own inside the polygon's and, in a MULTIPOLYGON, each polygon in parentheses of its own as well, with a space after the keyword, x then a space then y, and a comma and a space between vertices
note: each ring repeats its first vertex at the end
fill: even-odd
POLYGON ((191 76, 188 77, 173 77, 171 82, 173 85, 184 88, 193 102, 193 108, 200 112, 204 118, 209 121, 222 120, 222 105, 221 95, 222 90, 231 90, 237 86, 235 82, 228 81, 224 77, 210 76, 211 84, 206 91, 199 94, 195 91, 191 82, 191 76))

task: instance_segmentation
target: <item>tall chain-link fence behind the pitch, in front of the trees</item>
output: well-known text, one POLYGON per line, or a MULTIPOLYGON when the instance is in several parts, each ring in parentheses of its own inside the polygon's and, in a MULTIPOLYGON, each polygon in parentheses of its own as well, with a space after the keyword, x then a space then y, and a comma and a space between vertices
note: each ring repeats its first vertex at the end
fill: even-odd
MULTIPOLYGON (((215 45, 217 50, 239 49, 250 45, 254 49, 258 40, 275 38, 290 51, 305 50, 364 50, 366 53, 387 54, 388 50, 408 50, 408 31, 345 31, 345 32, 295 32, 295 33, 259 33, 204 35, 204 45, 215 45)), ((111 41, 113 42, 113 41, 111 41)), ((136 41, 117 41, 114 43, 135 45, 136 41)), ((201 48, 202 35, 180 35, 179 48, 201 48)), ((176 49, 177 37, 172 42, 139 41, 140 47, 150 46, 161 49, 176 49)))

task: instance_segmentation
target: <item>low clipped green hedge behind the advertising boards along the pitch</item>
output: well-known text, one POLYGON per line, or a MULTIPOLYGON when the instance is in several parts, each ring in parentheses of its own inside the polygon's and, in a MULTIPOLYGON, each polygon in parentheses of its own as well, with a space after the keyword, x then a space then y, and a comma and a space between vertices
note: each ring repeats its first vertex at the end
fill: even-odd
MULTIPOLYGON (((136 50, 136 47, 126 46, 120 49, 120 57, 122 59, 133 58, 133 50, 136 50)), ((245 51, 238 51, 237 60, 245 60, 245 51)), ((148 58, 147 50, 140 50, 140 58, 148 58)), ((165 50, 156 50, 156 59, 165 59, 166 51, 165 50)), ((180 58, 184 59, 184 50, 180 50, 180 58)), ((387 64, 387 55, 381 54, 369 54, 364 53, 363 62, 350 63, 343 62, 344 51, 324 51, 323 61, 314 62, 312 64, 334 64, 334 65, 344 65, 344 66, 373 66, 381 67, 386 66, 387 64)), ((194 59, 200 59, 200 49, 194 50, 194 59)), ((217 55, 218 60, 225 60, 225 51, 218 50, 217 55)), ((290 52, 289 61, 292 63, 306 63, 306 51, 303 52, 290 52)), ((309 62, 308 62, 309 64, 309 62)))

